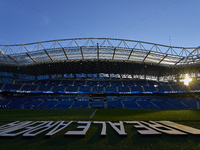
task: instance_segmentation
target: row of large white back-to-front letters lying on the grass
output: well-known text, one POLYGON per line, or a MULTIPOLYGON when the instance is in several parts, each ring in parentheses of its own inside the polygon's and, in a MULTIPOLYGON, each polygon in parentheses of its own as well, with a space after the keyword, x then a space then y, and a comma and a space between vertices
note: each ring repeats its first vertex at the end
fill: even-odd
POLYGON ((46 137, 51 137, 61 130, 67 128, 70 124, 78 125, 78 131, 67 131, 66 136, 85 136, 92 124, 100 124, 102 126, 101 136, 106 136, 106 127, 110 125, 119 136, 127 136, 124 124, 131 124, 137 129, 140 135, 179 135, 185 136, 188 134, 200 135, 200 130, 193 127, 181 125, 171 121, 15 121, 12 123, 0 126, 1 137, 35 137, 45 131, 46 137))

